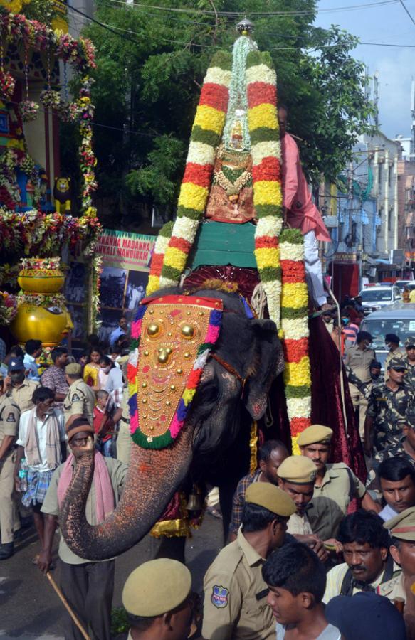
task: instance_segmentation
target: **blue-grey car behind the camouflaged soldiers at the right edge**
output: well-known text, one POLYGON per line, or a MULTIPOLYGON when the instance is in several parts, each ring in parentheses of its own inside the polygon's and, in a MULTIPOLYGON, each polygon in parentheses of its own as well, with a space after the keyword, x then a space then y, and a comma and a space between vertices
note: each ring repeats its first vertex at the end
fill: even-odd
POLYGON ((382 363, 387 357, 387 346, 384 343, 386 334, 396 334, 404 346, 406 338, 415 334, 415 304, 411 302, 395 302, 379 311, 369 314, 360 324, 361 331, 369 331, 373 338, 373 348, 377 360, 382 363))

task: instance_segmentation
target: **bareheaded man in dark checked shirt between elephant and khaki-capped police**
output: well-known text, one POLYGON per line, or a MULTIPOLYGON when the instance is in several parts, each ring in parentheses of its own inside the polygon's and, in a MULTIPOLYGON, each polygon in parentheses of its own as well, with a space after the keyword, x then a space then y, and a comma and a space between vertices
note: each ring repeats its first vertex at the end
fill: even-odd
POLYGON ((288 450, 280 440, 267 440, 259 450, 259 467, 254 474, 248 474, 238 482, 232 503, 232 516, 229 525, 229 540, 236 540, 241 526, 243 505, 248 486, 253 482, 270 482, 278 486, 278 467, 288 457, 288 450))

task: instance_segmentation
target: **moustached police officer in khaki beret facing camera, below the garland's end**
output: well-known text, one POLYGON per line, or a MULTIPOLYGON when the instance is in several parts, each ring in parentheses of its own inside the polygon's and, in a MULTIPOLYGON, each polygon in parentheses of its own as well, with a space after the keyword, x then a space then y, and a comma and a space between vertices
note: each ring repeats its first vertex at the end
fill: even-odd
POLYGON ((344 462, 329 463, 333 432, 324 425, 311 425, 298 436, 303 456, 317 468, 312 506, 307 515, 313 532, 322 538, 336 538, 347 507, 353 498, 362 500, 368 511, 379 511, 379 505, 366 491, 364 484, 344 462))

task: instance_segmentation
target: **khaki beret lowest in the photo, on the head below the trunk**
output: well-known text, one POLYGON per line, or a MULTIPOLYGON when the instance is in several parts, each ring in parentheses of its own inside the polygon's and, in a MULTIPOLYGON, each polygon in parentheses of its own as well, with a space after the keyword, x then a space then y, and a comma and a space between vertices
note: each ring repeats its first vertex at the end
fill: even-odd
POLYGON ((158 558, 145 562, 127 577, 122 604, 133 616, 161 616, 187 599, 191 574, 182 562, 158 558))

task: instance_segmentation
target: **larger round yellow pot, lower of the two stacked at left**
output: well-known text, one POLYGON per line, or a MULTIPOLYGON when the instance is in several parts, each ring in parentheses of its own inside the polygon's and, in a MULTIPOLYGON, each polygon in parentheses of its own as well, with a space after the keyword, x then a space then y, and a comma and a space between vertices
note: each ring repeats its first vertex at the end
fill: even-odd
POLYGON ((10 324, 11 333, 19 343, 41 340, 43 346, 56 346, 73 329, 68 309, 53 306, 46 309, 33 304, 20 304, 10 324))

